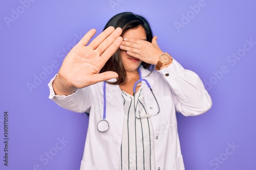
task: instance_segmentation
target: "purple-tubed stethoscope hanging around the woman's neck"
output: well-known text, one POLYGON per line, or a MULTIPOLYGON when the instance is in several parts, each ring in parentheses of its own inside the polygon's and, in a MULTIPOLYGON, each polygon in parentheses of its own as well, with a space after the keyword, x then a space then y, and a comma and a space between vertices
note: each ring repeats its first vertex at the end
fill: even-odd
MULTIPOLYGON (((159 107, 159 104, 158 104, 158 102, 157 102, 156 96, 154 95, 153 90, 152 90, 152 88, 151 88, 151 86, 150 86, 150 83, 148 83, 146 79, 142 79, 142 78, 141 78, 141 72, 140 72, 140 69, 139 69, 139 68, 138 68, 138 72, 139 72, 139 80, 136 81, 136 82, 134 83, 134 86, 133 86, 134 114, 135 114, 135 117, 136 117, 137 119, 142 119, 142 118, 145 118, 145 117, 151 117, 151 116, 157 115, 157 114, 160 112, 160 107, 159 107), (157 103, 157 106, 158 106, 158 112, 153 113, 153 114, 145 114, 145 115, 142 116, 142 117, 141 117, 141 116, 138 117, 138 116, 136 115, 135 93, 136 93, 137 84, 138 84, 139 82, 142 82, 142 81, 144 81, 144 82, 147 84, 147 87, 150 88, 150 90, 151 90, 151 92, 152 92, 152 94, 153 94, 153 96, 154 96, 154 98, 155 98, 155 100, 156 100, 156 103, 157 103)), ((100 121, 98 122, 98 124, 97 124, 97 130, 98 130, 99 132, 106 132, 106 131, 109 130, 109 122, 106 120, 106 81, 103 82, 103 100, 104 100, 104 101, 103 101, 103 119, 100 120, 100 121)))

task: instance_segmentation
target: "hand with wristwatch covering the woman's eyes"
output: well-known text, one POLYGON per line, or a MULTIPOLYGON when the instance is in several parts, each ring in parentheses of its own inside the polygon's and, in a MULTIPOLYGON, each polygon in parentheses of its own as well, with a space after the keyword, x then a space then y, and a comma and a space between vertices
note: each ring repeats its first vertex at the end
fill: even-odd
POLYGON ((153 37, 152 42, 140 39, 124 38, 120 49, 127 52, 129 56, 137 58, 148 64, 157 64, 162 50, 157 44, 157 36, 153 37))

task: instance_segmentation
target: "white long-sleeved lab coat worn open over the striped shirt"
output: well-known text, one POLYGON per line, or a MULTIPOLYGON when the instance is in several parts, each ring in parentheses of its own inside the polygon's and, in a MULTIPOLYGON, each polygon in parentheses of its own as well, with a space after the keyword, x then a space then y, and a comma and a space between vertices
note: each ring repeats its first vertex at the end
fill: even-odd
MULTIPOLYGON (((175 59, 168 67, 154 70, 151 74, 142 66, 140 70, 142 78, 151 85, 160 108, 159 114, 151 117, 154 130, 154 169, 182 170, 184 163, 176 111, 185 116, 202 114, 211 107, 210 96, 198 75, 184 69, 175 59)), ((106 120, 109 122, 109 130, 100 133, 97 123, 103 115, 103 82, 78 89, 68 96, 60 96, 54 94, 53 80, 54 78, 49 83, 50 99, 63 108, 90 113, 80 170, 118 169, 124 119, 119 86, 106 84, 106 120)), ((142 90, 147 112, 156 113, 159 108, 145 82, 142 82, 142 90)), ((130 160, 130 166, 134 163, 135 160, 130 160)))

